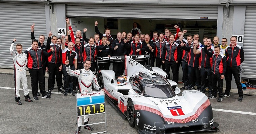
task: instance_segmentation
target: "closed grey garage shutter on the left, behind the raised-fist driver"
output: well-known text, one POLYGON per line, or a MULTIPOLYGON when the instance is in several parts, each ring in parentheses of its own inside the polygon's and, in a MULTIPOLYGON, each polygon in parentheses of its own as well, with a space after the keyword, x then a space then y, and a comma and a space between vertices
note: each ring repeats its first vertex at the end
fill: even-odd
POLYGON ((24 52, 31 46, 33 22, 35 38, 46 35, 45 7, 44 4, 0 3, 0 20, 0 67, 13 68, 9 52, 13 38, 23 45, 24 52))

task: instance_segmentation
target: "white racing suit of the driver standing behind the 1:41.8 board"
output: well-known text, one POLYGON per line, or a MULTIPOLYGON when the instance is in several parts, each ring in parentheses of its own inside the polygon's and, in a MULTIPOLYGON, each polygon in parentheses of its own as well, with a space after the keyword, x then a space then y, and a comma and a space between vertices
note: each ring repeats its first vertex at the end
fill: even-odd
MULTIPOLYGON (((66 66, 68 75, 78 77, 78 84, 80 87, 80 92, 90 92, 92 91, 92 84, 94 88, 99 90, 101 88, 98 84, 97 78, 93 71, 85 69, 71 70, 69 66, 66 66)), ((89 121, 89 116, 84 116, 84 122, 89 121)), ((78 127, 82 126, 82 117, 78 117, 77 120, 78 127)))

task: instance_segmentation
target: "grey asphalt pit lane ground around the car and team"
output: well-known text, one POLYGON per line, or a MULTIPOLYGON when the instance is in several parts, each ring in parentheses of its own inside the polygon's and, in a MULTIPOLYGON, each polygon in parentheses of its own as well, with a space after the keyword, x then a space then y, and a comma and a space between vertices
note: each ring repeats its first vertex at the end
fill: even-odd
MULTIPOLYGON (((33 103, 25 102, 23 91, 20 90, 22 105, 18 105, 14 101, 14 82, 12 74, 0 74, 0 132, 1 134, 71 134, 76 129, 76 110, 75 96, 57 93, 57 89, 53 90, 52 98, 45 99, 39 96, 39 100, 33 103), (8 87, 8 88, 5 88, 8 87)), ((28 89, 31 89, 31 78, 28 76, 28 89)), ((45 79, 47 85, 47 78, 45 79)), ((47 87, 47 86, 45 86, 47 87)), ((55 85, 57 87, 57 85, 55 85)), ((179 84, 182 87, 182 84, 179 84)), ((22 85, 20 88, 23 88, 22 85)), ((47 88, 46 88, 47 89, 47 88)), ((255 91, 255 90, 253 90, 255 91)), ((237 92, 237 91, 236 91, 237 92)), ((31 91, 29 95, 32 96, 31 91)), ((181 95, 181 93, 179 94, 181 95)), ((206 93, 207 95, 207 93, 206 93)), ((220 126, 218 131, 213 133, 225 134, 254 134, 256 115, 238 114, 215 111, 215 110, 233 110, 251 112, 256 114, 254 96, 244 96, 243 102, 238 102, 238 95, 230 95, 224 98, 222 102, 217 99, 210 99, 214 109, 214 121, 220 126)), ((33 99, 32 99, 33 100, 33 99)), ((101 121, 103 116, 90 116, 89 123, 101 121)), ((123 119, 112 106, 106 102, 106 122, 107 134, 138 134, 131 128, 126 119, 123 119)), ((97 132, 104 129, 104 126, 91 125, 95 130, 89 131, 84 128, 81 134, 97 132)), ((209 134, 197 133, 197 134, 209 134)))

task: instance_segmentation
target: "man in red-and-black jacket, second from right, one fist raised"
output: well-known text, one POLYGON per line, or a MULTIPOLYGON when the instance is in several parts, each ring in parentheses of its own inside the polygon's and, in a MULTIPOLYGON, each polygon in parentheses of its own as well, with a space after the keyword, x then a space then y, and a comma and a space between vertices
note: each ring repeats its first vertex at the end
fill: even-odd
MULTIPOLYGON (((207 42, 211 41, 211 39, 207 39, 207 42)), ((208 45, 207 45, 208 48, 208 45)), ((206 46, 204 47, 204 52, 209 56, 212 57, 212 83, 213 83, 213 96, 209 97, 211 98, 217 98, 217 81, 218 81, 218 91, 219 91, 219 98, 218 102, 222 101, 222 85, 223 85, 223 79, 224 75, 226 73, 226 57, 223 54, 220 54, 220 46, 215 46, 214 51, 215 54, 212 52, 209 52, 207 50, 206 46)))

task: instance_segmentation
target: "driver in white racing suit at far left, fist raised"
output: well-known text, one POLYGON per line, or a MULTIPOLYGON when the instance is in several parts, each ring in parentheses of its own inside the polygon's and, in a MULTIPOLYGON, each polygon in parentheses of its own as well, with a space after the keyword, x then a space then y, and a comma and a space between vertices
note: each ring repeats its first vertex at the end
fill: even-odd
POLYGON ((24 97, 26 102, 33 102, 33 100, 30 99, 29 91, 28 91, 28 83, 27 83, 27 72, 26 72, 26 65, 28 63, 28 58, 25 53, 22 52, 22 45, 17 44, 16 50, 17 52, 14 52, 14 43, 16 39, 13 39, 11 47, 10 47, 10 53, 11 57, 14 63, 14 89, 15 89, 15 102, 17 104, 22 105, 21 99, 20 99, 20 81, 22 82, 23 91, 24 91, 24 97))

